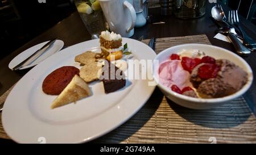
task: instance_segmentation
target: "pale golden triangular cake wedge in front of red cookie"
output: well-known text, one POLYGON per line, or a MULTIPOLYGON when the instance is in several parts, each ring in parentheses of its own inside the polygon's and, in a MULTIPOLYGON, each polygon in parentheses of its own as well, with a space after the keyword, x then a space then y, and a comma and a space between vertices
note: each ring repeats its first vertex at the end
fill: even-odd
POLYGON ((75 75, 60 95, 53 100, 51 108, 53 109, 71 102, 76 102, 77 100, 88 97, 91 94, 90 88, 86 82, 79 76, 75 75))

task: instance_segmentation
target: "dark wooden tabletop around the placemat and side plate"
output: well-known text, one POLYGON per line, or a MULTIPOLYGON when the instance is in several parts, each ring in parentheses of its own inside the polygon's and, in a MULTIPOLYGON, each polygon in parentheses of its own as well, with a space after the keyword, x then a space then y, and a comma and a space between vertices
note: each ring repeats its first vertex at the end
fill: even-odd
MULTIPOLYGON (((165 24, 147 24, 142 28, 135 28, 135 34, 132 38, 137 39, 140 36, 144 36, 144 39, 150 39, 151 37, 175 37, 175 36, 189 36, 189 35, 199 35, 206 34, 210 43, 218 47, 229 49, 234 51, 232 44, 226 43, 221 40, 214 39, 214 33, 217 30, 216 25, 209 18, 210 9, 213 4, 208 3, 206 14, 197 19, 182 20, 177 19, 172 16, 162 16, 160 15, 160 9, 151 9, 150 14, 152 15, 153 22, 165 22, 165 24)), ((224 7, 226 14, 228 13, 228 8, 224 7)), ((245 18, 241 17, 241 22, 245 31, 256 40, 256 26, 248 22, 245 18)), ((44 32, 42 35, 35 37, 27 44, 23 45, 9 56, 0 60, 0 95, 5 93, 11 86, 14 85, 20 78, 24 76, 30 69, 20 70, 13 72, 8 68, 9 62, 20 52, 26 50, 27 48, 32 47, 33 45, 42 43, 52 39, 53 37, 59 37, 60 40, 63 40, 65 46, 71 46, 82 41, 90 40, 91 37, 87 32, 78 12, 74 12, 67 19, 62 20, 57 23, 56 26, 50 28, 48 31, 44 32)), ((249 57, 244 58, 251 68, 256 70, 256 53, 253 52, 249 57)), ((254 77, 256 77, 256 72, 254 72, 254 77)), ((246 99, 251 111, 256 112, 255 103, 256 103, 256 81, 253 81, 253 85, 250 87, 249 91, 243 97, 246 99)), ((9 141, 9 140, 1 140, 9 141)))

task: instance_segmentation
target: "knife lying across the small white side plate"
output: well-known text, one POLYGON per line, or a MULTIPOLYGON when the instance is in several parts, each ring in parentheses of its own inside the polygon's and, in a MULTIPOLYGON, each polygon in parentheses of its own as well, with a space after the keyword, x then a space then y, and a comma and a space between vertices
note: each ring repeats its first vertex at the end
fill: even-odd
POLYGON ((28 64, 31 64, 31 62, 35 61, 38 57, 40 57, 44 52, 47 51, 49 47, 57 40, 57 37, 55 39, 50 40, 47 44, 45 44, 42 48, 38 49, 35 53, 33 53, 31 56, 27 57, 25 60, 20 62, 18 65, 16 65, 11 70, 17 70, 22 68, 23 66, 26 66, 28 64), (26 64, 26 65, 25 65, 26 64))

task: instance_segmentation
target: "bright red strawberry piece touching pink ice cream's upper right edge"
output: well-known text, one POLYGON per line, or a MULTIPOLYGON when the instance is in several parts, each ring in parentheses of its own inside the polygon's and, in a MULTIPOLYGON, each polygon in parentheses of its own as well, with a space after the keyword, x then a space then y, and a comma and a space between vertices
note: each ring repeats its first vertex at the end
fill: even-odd
POLYGON ((201 63, 200 58, 190 58, 190 57, 182 57, 181 65, 184 70, 187 70, 189 73, 192 72, 192 69, 195 68, 198 64, 201 63))

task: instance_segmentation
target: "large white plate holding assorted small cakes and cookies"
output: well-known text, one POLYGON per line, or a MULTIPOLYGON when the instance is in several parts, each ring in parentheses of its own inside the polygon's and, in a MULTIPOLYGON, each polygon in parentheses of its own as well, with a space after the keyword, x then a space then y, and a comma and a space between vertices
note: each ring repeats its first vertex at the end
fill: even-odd
MULTIPOLYGON (((154 60, 146 44, 123 38, 134 58, 154 60)), ((89 40, 52 55, 31 69, 10 92, 3 106, 2 123, 7 135, 18 143, 82 143, 117 128, 133 116, 150 97, 155 86, 148 80, 129 80, 126 87, 105 94, 102 82, 89 84, 92 96, 51 110, 54 95, 44 94, 42 82, 53 70, 72 65, 80 68, 75 56, 85 51, 100 52, 99 40, 89 40)), ((147 66, 151 72, 151 65, 147 66)), ((128 66, 129 69, 129 66, 128 66)), ((150 73, 151 74, 151 73, 150 73)), ((152 81, 154 81, 152 79, 152 81)))

